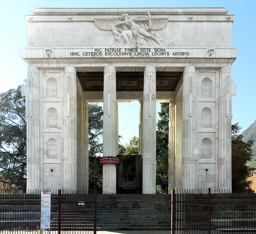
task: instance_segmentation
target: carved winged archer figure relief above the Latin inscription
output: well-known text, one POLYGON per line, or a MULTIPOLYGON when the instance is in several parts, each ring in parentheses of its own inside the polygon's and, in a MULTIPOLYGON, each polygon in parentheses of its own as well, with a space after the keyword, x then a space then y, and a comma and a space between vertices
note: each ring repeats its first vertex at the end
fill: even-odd
POLYGON ((148 16, 130 17, 127 13, 119 18, 95 18, 95 24, 103 30, 112 30, 115 37, 114 46, 163 46, 164 40, 154 32, 167 24, 167 17, 148 16))

